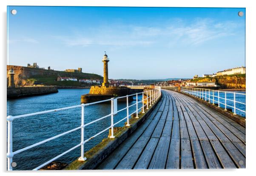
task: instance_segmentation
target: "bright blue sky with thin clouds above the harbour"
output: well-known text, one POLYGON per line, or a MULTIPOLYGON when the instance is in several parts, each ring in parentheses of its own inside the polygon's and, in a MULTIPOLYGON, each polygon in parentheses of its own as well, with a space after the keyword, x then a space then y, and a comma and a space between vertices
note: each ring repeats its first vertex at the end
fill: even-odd
POLYGON ((245 8, 9 6, 10 65, 109 78, 190 78, 245 66, 245 8), (11 9, 17 14, 12 15, 11 9))

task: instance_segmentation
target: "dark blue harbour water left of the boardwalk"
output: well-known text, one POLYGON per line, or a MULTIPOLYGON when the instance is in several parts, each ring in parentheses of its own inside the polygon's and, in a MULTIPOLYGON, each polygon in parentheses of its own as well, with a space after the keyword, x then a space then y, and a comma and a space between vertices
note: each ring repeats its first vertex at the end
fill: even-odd
MULTIPOLYGON (((82 94, 89 89, 59 89, 58 93, 41 96, 31 96, 20 99, 7 100, 7 115, 21 115, 43 110, 57 109, 80 104, 82 94)), ((129 105, 134 104, 134 101, 129 105)), ((138 96, 141 100, 142 96, 138 96)), ((141 107, 142 104, 139 104, 141 107)), ((126 107, 126 102, 118 102, 118 110, 126 107)), ((136 110, 136 105, 129 108, 129 114, 136 110)), ((93 121, 111 113, 110 103, 95 104, 85 107, 85 123, 93 121)), ((114 116, 114 123, 126 116, 127 111, 121 111, 114 116)), ((125 120, 117 126, 124 126, 125 120)), ((13 151, 30 146, 49 137, 61 134, 81 125, 81 107, 63 110, 54 113, 34 115, 13 121, 13 151)), ((85 127, 85 139, 97 134, 111 125, 111 118, 105 118, 85 127)), ((108 137, 108 130, 85 143, 85 151, 100 143, 108 137)), ((31 170, 44 162, 62 154, 64 151, 76 146, 81 140, 81 130, 71 132, 40 146, 14 155, 13 162, 17 163, 14 170, 31 170)), ((80 147, 57 159, 60 162, 72 162, 80 157, 80 147)))

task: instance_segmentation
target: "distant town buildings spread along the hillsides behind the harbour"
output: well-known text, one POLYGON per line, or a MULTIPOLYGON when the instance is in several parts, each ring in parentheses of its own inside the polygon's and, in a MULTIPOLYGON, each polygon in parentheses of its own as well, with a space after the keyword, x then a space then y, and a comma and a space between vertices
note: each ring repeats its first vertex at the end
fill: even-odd
MULTIPOLYGON (((50 66, 48 66, 48 69, 41 68, 39 65, 37 65, 36 62, 33 64, 27 64, 28 68, 34 68, 38 70, 46 70, 46 71, 56 71, 54 69, 51 69, 50 66)), ((23 67, 26 68, 26 67, 23 67)), ((15 72, 17 71, 14 70, 15 72)), ((222 77, 222 76, 232 76, 232 75, 245 75, 246 68, 245 66, 231 68, 231 69, 225 69, 222 71, 218 71, 213 74, 202 74, 202 77, 199 77, 198 74, 194 75, 193 78, 181 78, 181 79, 166 79, 166 81, 161 80, 127 80, 127 79, 108 79, 108 83, 110 86, 127 86, 127 85, 160 85, 160 86, 188 86, 188 87, 218 87, 216 77, 222 77)), ((12 73, 13 74, 13 73, 12 73)), ((14 73, 15 74, 15 73, 14 73)), ((100 75, 98 77, 84 77, 80 74, 84 74, 82 72, 82 68, 78 69, 65 69, 64 71, 57 71, 57 74, 59 76, 51 81, 51 85, 54 85, 55 81, 57 82, 63 82, 65 85, 65 82, 70 82, 72 85, 72 82, 79 82, 79 84, 82 86, 90 86, 90 85, 101 85, 103 80, 100 75), (66 74, 62 74, 66 73, 66 74), (63 76, 64 75, 64 76, 63 76), (71 76, 68 76, 71 75, 71 76), (74 77, 74 75, 77 75, 78 77, 74 77)), ((34 85, 42 83, 34 82, 34 85)), ((57 84, 57 83, 56 83, 57 84)), ((59 85, 59 84, 57 84, 59 85)), ((76 84, 77 86, 77 84, 76 84)))

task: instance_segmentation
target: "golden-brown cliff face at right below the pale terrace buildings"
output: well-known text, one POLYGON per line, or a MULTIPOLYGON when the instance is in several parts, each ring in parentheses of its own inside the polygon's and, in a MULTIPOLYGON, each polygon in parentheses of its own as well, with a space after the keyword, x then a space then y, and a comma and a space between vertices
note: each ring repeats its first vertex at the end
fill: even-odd
POLYGON ((213 78, 221 88, 246 88, 246 77, 223 76, 213 78))

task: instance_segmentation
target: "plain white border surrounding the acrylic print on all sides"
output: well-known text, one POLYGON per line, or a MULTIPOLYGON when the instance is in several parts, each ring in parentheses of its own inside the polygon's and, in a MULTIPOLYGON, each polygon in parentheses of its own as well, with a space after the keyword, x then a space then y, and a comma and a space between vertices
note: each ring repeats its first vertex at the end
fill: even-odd
MULTIPOLYGON (((1 0, 1 171, 6 173, 6 6, 7 5, 54 5, 54 6, 148 6, 148 7, 245 7, 246 8, 246 71, 247 71, 247 99, 246 99, 246 113, 247 113, 247 157, 246 157, 246 169, 222 169, 222 170, 83 170, 83 171, 69 171, 63 172, 47 172, 49 175, 62 174, 111 174, 111 175, 170 175, 170 174, 182 174, 182 175, 219 175, 219 174, 232 174, 232 175, 247 175, 255 172, 256 168, 256 142, 255 142, 255 129, 256 129, 256 115, 255 109, 255 51, 256 51, 256 6, 253 4, 253 0, 1 0)), ((34 175, 34 172, 13 172, 14 175, 34 175)), ((46 172, 39 172, 37 174, 45 175, 46 172)))

